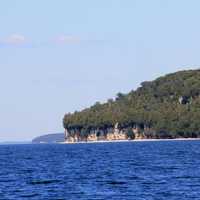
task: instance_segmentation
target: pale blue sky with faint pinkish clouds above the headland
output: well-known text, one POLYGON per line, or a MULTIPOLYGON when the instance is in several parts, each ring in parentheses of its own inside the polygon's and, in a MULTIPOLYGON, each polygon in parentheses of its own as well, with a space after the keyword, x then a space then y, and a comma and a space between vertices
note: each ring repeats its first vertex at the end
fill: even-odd
POLYGON ((0 0, 0 142, 200 66, 199 0, 0 0))

